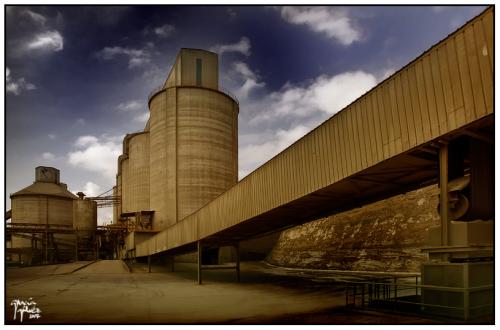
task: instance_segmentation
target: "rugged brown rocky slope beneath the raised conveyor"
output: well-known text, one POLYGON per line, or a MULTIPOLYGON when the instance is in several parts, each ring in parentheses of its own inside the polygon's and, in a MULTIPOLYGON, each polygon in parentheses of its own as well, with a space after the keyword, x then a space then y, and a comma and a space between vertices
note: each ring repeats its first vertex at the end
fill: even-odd
POLYGON ((284 231, 274 265, 359 271, 420 271, 429 227, 439 225, 436 185, 284 231))

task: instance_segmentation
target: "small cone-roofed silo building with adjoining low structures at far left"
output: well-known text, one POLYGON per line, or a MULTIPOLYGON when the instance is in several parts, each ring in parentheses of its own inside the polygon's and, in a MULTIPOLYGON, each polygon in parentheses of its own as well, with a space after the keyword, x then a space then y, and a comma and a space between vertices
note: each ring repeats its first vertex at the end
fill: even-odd
POLYGON ((82 192, 77 195, 60 182, 58 169, 38 166, 35 182, 10 196, 7 263, 30 266, 115 257, 126 228, 97 226, 98 202, 82 192))

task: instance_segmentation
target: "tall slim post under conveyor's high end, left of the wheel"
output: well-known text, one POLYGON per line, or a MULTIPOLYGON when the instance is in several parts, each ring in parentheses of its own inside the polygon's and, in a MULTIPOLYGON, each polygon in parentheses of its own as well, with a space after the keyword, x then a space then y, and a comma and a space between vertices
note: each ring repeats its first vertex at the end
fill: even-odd
POLYGON ((441 246, 448 246, 448 146, 439 148, 439 215, 441 218, 441 246))

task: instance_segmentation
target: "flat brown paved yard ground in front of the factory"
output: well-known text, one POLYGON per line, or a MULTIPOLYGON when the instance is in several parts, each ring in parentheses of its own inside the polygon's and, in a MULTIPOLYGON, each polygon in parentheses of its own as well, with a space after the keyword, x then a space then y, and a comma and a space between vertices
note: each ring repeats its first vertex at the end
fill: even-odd
POLYGON ((33 298, 39 319, 23 323, 257 323, 257 324, 429 324, 417 316, 360 312, 345 308, 343 287, 327 277, 303 276, 264 263, 242 263, 234 270, 211 270, 196 281, 195 264, 175 272, 144 264, 132 272, 118 260, 79 262, 6 271, 7 323, 14 299, 33 298))

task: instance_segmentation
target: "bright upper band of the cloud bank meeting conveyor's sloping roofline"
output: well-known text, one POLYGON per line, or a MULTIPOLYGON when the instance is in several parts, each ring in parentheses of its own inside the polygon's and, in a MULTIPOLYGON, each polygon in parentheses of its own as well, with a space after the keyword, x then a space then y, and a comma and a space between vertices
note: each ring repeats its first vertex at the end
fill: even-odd
POLYGON ((374 75, 364 71, 348 71, 335 76, 320 76, 309 86, 285 85, 281 91, 271 93, 262 102, 263 109, 271 109, 257 115, 259 122, 273 117, 306 117, 313 112, 333 115, 377 83, 374 75))

